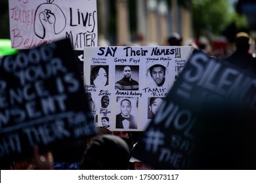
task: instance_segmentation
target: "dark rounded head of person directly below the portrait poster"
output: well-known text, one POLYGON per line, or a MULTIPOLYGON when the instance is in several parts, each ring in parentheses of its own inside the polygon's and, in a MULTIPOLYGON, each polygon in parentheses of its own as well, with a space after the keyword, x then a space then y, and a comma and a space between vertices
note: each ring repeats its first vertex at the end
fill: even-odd
POLYGON ((123 139, 116 135, 100 135, 85 150, 80 169, 125 170, 130 157, 129 146, 123 139))

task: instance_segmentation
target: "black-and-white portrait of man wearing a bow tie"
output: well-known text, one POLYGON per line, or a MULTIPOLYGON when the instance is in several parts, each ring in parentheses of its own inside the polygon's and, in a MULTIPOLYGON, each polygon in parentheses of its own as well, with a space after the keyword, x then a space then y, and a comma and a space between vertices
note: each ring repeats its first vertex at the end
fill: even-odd
POLYGON ((116 128, 138 128, 138 97, 117 97, 116 128))

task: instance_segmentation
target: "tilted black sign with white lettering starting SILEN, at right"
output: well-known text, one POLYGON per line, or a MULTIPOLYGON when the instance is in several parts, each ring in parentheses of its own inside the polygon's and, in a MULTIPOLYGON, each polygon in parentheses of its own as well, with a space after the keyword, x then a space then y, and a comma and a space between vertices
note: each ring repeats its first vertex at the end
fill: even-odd
POLYGON ((253 169, 255 99, 255 76, 194 52, 133 156, 154 169, 253 169))

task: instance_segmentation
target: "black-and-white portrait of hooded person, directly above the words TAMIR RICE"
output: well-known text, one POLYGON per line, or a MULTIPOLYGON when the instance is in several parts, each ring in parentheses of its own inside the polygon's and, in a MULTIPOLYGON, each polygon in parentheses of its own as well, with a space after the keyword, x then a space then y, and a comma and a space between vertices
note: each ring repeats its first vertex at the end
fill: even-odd
POLYGON ((146 84, 150 88, 169 88, 168 84, 169 61, 156 62, 147 61, 146 63, 146 84))

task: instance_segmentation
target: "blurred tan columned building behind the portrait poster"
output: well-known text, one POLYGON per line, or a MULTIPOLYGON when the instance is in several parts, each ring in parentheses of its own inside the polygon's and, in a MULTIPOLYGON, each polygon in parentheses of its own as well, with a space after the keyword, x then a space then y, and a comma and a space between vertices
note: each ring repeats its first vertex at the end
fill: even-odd
POLYGON ((183 0, 183 5, 178 0, 98 0, 97 3, 98 33, 111 44, 166 45, 172 32, 181 34, 185 40, 193 37, 190 0, 183 0))

